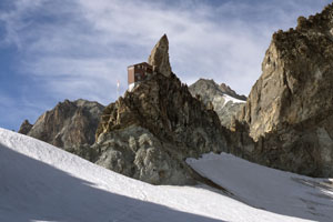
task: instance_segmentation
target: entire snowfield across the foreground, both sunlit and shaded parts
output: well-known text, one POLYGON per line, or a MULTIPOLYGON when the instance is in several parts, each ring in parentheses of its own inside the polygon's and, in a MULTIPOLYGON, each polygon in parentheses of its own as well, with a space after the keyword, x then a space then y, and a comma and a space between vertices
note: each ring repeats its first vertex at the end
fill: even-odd
POLYGON ((203 185, 151 185, 0 129, 0 221, 332 221, 329 180, 210 157, 189 162, 235 199, 203 185))

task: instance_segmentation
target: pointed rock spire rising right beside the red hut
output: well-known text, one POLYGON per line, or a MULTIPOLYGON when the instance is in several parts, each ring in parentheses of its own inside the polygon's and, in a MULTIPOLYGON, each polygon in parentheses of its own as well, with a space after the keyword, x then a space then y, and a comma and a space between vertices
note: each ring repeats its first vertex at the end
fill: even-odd
POLYGON ((153 67, 154 71, 170 77, 172 71, 169 62, 169 41, 167 34, 154 46, 148 58, 148 63, 153 67))

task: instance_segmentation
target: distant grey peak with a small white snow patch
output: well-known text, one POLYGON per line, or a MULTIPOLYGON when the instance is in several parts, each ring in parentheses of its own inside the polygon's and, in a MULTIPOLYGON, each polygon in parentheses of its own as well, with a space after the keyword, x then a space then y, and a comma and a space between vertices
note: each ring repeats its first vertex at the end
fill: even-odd
POLYGON ((244 107, 246 97, 239 95, 226 84, 216 84, 213 80, 200 79, 189 87, 193 97, 200 95, 205 105, 212 104, 221 124, 230 128, 235 114, 244 107))

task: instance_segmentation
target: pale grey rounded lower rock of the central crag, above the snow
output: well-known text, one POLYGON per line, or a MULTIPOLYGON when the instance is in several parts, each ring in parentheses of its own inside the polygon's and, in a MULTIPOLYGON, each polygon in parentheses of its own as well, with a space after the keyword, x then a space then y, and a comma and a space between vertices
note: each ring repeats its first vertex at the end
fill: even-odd
POLYGON ((101 153, 97 164, 124 175, 151 184, 194 183, 184 157, 176 151, 179 147, 161 141, 142 127, 102 133, 95 148, 101 153))

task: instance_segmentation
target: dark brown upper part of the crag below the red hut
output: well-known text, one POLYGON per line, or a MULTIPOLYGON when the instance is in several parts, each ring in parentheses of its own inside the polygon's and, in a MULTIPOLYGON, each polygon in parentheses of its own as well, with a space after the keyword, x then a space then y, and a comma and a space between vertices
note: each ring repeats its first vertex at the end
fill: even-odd
MULTIPOLYGON (((105 119, 100 122, 97 138, 102 132, 122 129, 132 124, 144 127, 159 137, 170 138, 171 135, 168 134, 172 134, 175 128, 190 127, 188 115, 193 111, 188 109, 192 103, 193 107, 195 105, 193 109, 202 110, 202 115, 208 114, 206 107, 192 98, 188 87, 182 84, 175 74, 165 78, 163 74, 157 73, 157 75, 140 84, 135 91, 127 92, 124 98, 120 98, 105 108, 103 112, 105 119), (184 113, 182 113, 182 110, 184 110, 184 113), (108 115, 110 112, 119 114, 108 115), (155 120, 160 122, 154 122, 155 120), (102 127, 103 124, 108 127, 102 127)), ((214 112, 210 111, 209 113, 211 121, 218 120, 214 112)), ((201 120, 200 115, 193 114, 191 118, 198 118, 198 123, 206 121, 208 117, 203 117, 201 120)), ((193 122, 194 125, 196 123, 193 122)), ((181 142, 181 138, 179 140, 178 142, 181 142)))

